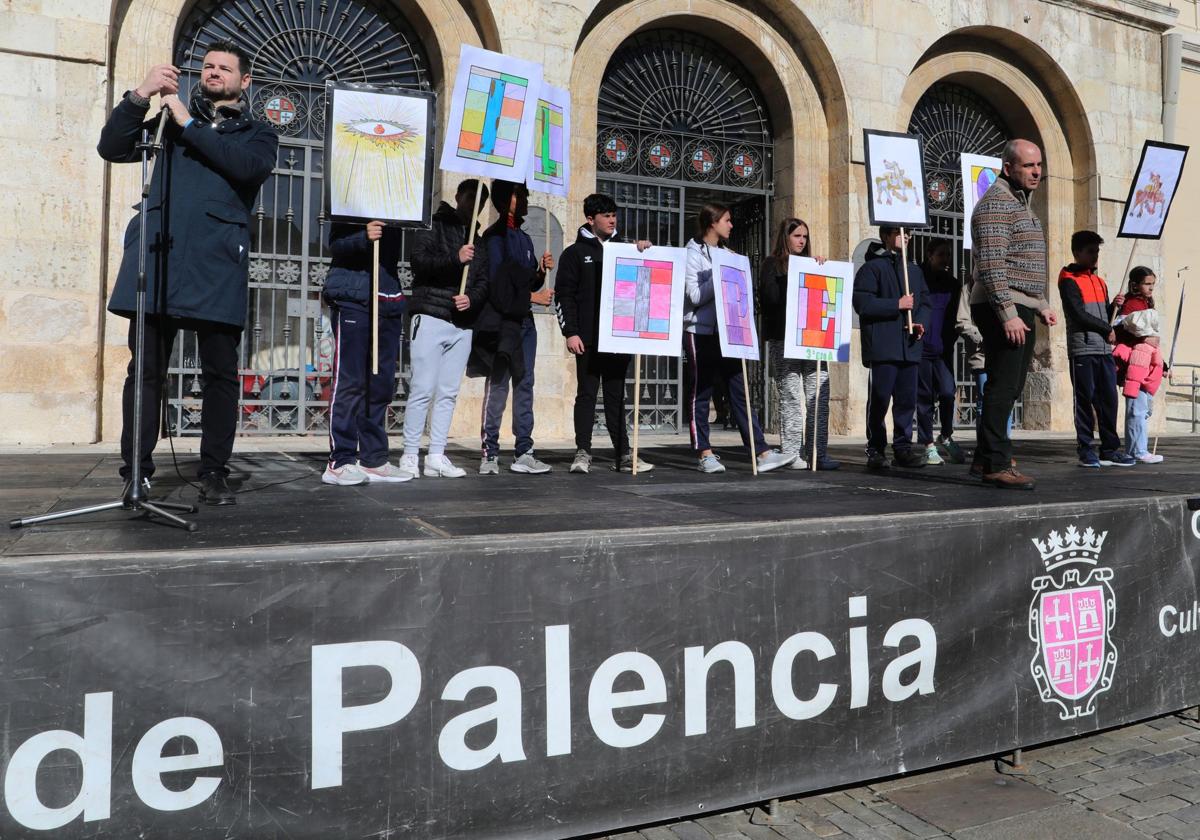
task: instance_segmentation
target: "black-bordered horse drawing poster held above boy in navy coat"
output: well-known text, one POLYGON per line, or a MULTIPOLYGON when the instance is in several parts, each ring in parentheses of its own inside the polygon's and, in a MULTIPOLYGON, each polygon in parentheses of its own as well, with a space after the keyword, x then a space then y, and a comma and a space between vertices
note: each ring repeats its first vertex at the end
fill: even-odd
POLYGON ((892 131, 863 130, 866 202, 871 224, 923 228, 929 224, 925 166, 920 138, 892 131))

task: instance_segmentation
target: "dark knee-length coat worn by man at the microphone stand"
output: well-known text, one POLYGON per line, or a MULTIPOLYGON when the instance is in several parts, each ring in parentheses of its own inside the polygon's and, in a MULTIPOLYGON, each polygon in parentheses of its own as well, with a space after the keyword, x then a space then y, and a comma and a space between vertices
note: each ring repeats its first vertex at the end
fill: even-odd
MULTIPOLYGON (((122 98, 100 133, 106 161, 140 160, 134 146, 158 120, 122 98)), ((275 167, 278 136, 239 114, 216 127, 193 119, 180 128, 168 118, 163 150, 146 202, 146 311, 244 326, 250 268, 250 220, 258 188, 275 167)), ((125 229, 125 256, 108 308, 137 308, 139 222, 125 229)))

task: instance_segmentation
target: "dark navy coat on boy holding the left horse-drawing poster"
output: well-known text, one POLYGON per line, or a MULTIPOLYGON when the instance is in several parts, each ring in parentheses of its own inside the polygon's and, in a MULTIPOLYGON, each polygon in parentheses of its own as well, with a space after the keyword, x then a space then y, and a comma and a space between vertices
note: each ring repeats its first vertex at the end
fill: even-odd
MULTIPOLYGON (((922 341, 908 335, 907 319, 900 310, 902 270, 899 253, 880 251, 868 256, 854 275, 854 312, 863 342, 863 365, 868 367, 878 361, 920 361, 922 341)), ((913 323, 928 329, 928 289, 918 265, 908 266, 908 289, 913 296, 913 323)))

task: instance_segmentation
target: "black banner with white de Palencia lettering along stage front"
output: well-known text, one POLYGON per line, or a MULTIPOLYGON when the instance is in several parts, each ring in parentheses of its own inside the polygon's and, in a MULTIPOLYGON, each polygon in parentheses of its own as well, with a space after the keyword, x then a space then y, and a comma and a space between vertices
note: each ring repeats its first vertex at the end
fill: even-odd
POLYGON ((560 838, 998 754, 1200 703, 1198 565, 1182 499, 18 560, 0 836, 560 838))

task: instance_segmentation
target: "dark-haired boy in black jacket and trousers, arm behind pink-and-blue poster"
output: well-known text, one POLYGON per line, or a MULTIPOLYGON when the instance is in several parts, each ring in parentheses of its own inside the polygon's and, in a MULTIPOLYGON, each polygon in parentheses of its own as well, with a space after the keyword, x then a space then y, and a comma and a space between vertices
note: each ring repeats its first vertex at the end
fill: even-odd
MULTIPOLYGON (((554 286, 558 325, 566 338, 566 349, 575 356, 577 388, 575 391, 575 460, 572 473, 592 468, 592 428, 595 425, 596 390, 604 386, 604 416, 612 440, 613 469, 630 472, 634 458, 629 452, 625 428, 625 377, 629 372, 628 353, 600 353, 600 272, 605 242, 617 239, 617 203, 604 193, 583 199, 583 217, 575 244, 559 258, 554 286)), ((650 247, 640 240, 638 251, 650 247)), ((635 419, 636 422, 636 419, 635 419)), ((638 460, 637 470, 646 473, 654 466, 638 460)))

